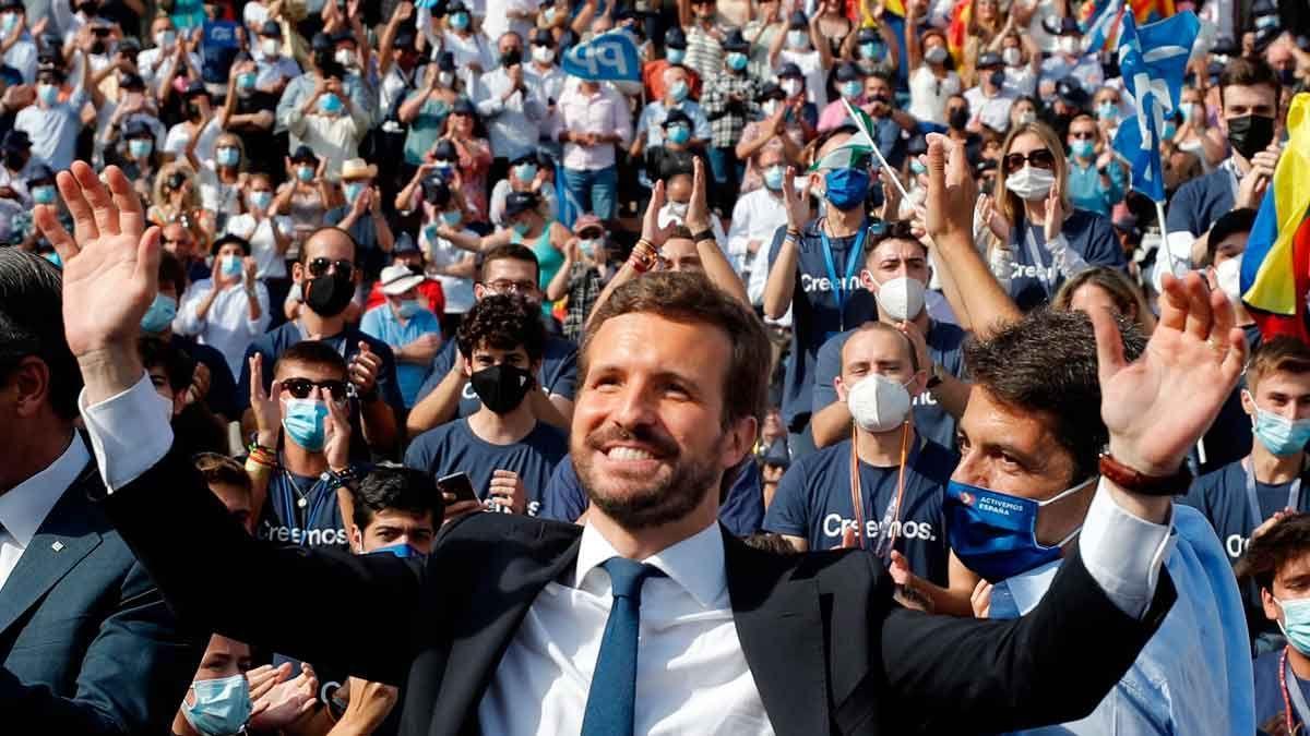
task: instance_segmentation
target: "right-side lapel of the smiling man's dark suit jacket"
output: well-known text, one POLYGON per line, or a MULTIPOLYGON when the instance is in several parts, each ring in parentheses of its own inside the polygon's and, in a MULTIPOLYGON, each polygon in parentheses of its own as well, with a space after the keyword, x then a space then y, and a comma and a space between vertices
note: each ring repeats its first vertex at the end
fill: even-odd
POLYGON ((819 584, 790 579, 772 555, 724 533, 738 639, 779 736, 828 733, 828 682, 819 584))

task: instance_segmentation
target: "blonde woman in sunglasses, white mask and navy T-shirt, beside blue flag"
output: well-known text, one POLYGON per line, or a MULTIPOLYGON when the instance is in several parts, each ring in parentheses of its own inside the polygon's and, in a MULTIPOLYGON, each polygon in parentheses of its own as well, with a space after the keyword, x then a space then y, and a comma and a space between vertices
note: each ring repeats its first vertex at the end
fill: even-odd
POLYGON ((1090 266, 1125 270, 1110 219, 1069 202, 1064 144, 1047 124, 1017 126, 1005 139, 996 200, 980 206, 997 238, 992 272, 1019 306, 1047 304, 1066 279, 1090 266))

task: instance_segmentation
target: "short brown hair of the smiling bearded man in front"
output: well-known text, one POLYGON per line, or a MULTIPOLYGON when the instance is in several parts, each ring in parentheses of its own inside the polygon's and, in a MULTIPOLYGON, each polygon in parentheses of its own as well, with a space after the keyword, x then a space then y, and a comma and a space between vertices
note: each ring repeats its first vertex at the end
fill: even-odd
POLYGON ((586 381, 591 346, 601 325, 624 314, 655 314, 727 333, 732 356, 723 376, 723 426, 747 416, 761 419, 769 394, 769 337, 764 322, 714 285, 703 274, 659 271, 627 282, 596 308, 582 339, 578 364, 586 381))

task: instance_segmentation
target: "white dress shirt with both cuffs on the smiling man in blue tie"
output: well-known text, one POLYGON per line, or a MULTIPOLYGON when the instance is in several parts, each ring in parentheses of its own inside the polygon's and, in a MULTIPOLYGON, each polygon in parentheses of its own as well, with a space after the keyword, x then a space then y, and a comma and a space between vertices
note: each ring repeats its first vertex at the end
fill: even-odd
MULTIPOLYGON (((83 420, 109 492, 145 473, 168 452, 173 428, 149 376, 88 406, 83 420)), ((1151 524, 1098 488, 1078 554, 1111 601, 1141 617, 1169 551, 1172 513, 1151 524)), ((617 557, 593 526, 583 528, 572 587, 548 583, 528 609, 478 705, 486 733, 578 733, 609 617, 609 578, 600 563, 617 557)), ((637 733, 772 733, 741 652, 727 589, 718 524, 642 561, 668 578, 642 591, 637 660, 637 733)), ((941 667, 954 667, 943 660, 941 667)))

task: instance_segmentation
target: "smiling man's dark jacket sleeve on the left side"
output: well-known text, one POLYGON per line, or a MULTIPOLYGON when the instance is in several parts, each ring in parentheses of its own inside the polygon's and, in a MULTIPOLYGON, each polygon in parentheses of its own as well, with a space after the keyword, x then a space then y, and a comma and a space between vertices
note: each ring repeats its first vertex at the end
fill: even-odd
MULTIPOLYGON (((402 680, 415 650, 423 563, 257 541, 178 452, 103 504, 179 619, 367 680, 402 680), (325 596, 331 616, 297 614, 325 596), (343 623, 369 634, 342 635, 343 623)), ((434 622, 423 626, 431 636, 434 622)))

